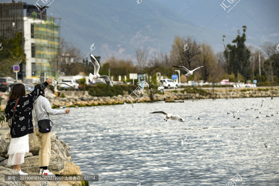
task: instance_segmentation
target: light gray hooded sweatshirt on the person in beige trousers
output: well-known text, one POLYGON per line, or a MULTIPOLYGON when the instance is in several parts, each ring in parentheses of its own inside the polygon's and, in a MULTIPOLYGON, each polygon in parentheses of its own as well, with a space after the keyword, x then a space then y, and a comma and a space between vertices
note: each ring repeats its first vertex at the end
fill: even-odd
POLYGON ((33 103, 33 110, 32 115, 35 120, 35 130, 38 129, 38 120, 42 119, 50 119, 49 114, 51 115, 59 115, 59 114, 66 114, 65 110, 55 110, 51 108, 49 100, 47 98, 40 95, 37 100, 33 103), (36 112, 35 112, 36 109, 36 112), (37 117, 36 117, 37 113, 37 117), (38 120, 37 120, 38 118, 38 120))

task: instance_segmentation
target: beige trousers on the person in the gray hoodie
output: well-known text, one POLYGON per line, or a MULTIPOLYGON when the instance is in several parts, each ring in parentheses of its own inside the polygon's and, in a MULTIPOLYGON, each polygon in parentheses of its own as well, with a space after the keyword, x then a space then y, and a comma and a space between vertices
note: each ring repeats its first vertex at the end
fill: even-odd
POLYGON ((40 146, 39 150, 39 167, 48 166, 51 155, 51 137, 50 132, 41 133, 36 129, 36 136, 40 146))

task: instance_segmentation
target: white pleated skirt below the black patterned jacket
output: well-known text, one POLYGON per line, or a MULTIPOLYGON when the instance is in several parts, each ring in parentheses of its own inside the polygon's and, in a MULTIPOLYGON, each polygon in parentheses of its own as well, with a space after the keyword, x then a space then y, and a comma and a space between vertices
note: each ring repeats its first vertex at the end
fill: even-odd
POLYGON ((25 153, 29 153, 29 135, 12 138, 9 147, 8 165, 21 165, 24 163, 25 153))

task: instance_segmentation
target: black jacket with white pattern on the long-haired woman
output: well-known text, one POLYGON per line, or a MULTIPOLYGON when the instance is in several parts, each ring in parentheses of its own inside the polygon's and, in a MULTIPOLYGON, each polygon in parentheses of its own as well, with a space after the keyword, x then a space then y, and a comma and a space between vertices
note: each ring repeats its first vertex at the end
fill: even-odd
MULTIPOLYGON (((41 86, 34 90, 33 92, 22 96, 18 102, 15 109, 15 118, 11 126, 11 137, 19 138, 27 134, 33 133, 33 120, 32 120, 32 104, 34 101, 42 94, 48 83, 44 82, 41 86)), ((13 115, 16 100, 8 100, 5 109, 5 117, 13 115)))

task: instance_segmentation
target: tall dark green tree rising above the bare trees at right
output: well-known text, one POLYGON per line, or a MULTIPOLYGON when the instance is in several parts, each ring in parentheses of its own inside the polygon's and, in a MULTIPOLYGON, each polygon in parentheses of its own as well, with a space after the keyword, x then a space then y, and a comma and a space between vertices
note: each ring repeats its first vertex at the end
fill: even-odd
POLYGON ((242 28, 242 36, 240 36, 240 31, 238 30, 237 38, 232 40, 232 43, 236 43, 236 45, 228 44, 227 47, 225 47, 224 56, 228 64, 229 74, 234 73, 234 75, 237 75, 237 73, 241 73, 244 78, 248 79, 247 69, 250 65, 250 51, 245 45, 246 26, 242 28))

